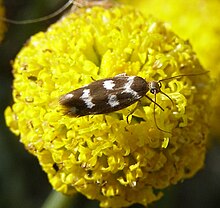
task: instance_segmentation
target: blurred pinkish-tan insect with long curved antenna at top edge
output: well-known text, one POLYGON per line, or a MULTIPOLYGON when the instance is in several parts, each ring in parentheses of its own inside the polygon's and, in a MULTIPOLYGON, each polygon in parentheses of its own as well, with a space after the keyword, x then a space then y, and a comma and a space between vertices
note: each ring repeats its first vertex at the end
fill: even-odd
POLYGON ((59 14, 61 14, 62 12, 64 12, 65 10, 67 10, 71 5, 72 12, 75 12, 78 8, 88 8, 88 7, 93 7, 93 6, 101 6, 104 8, 110 8, 113 5, 116 5, 118 3, 114 2, 114 0, 69 0, 66 4, 64 4, 60 9, 58 9, 57 11, 40 17, 40 18, 36 18, 36 19, 30 19, 30 20, 12 20, 12 19, 8 19, 8 18, 4 18, 4 17, 0 17, 0 21, 4 21, 4 22, 8 22, 11 24, 16 24, 16 25, 23 25, 23 24, 32 24, 32 23, 37 23, 37 22, 43 22, 46 20, 49 20, 53 17, 58 16, 59 14))

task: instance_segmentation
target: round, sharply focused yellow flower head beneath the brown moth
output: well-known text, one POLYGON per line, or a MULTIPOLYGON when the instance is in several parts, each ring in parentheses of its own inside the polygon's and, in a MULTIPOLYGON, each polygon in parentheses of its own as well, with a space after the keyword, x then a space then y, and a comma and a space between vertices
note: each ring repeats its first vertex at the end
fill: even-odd
POLYGON ((17 55, 6 123, 57 191, 81 192, 102 207, 147 205, 203 166, 209 74, 162 82, 174 103, 158 93, 164 111, 143 97, 109 114, 69 117, 59 98, 122 73, 158 81, 202 72, 191 45, 167 24, 128 6, 79 9, 32 36, 17 55), (160 131, 154 116, 171 133, 160 131))

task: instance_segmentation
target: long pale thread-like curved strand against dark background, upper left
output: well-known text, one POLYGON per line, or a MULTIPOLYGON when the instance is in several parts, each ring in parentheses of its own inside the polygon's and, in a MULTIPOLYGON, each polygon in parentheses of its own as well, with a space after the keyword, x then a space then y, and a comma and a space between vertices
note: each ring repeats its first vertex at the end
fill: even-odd
POLYGON ((8 22, 11 24, 16 24, 16 25, 25 25, 25 24, 32 24, 32 23, 37 23, 37 22, 43 22, 45 20, 51 19, 53 17, 56 17, 57 15, 61 14, 63 11, 65 11, 71 4, 73 4, 73 0, 69 0, 66 4, 64 4, 60 9, 58 9, 57 11, 44 16, 44 17, 40 17, 37 19, 30 19, 30 20, 12 20, 12 19, 8 19, 8 18, 0 18, 0 21, 4 21, 4 22, 8 22))

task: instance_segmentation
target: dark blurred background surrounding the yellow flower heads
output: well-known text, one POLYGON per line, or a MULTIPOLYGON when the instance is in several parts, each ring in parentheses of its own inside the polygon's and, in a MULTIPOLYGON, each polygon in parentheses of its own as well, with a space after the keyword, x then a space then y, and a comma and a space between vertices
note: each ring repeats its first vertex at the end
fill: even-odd
MULTIPOLYGON (((35 19, 54 12, 67 0, 5 0, 6 17, 14 20, 35 19)), ((138 2, 138 0, 137 0, 138 2)), ((151 1, 153 2, 153 0, 151 1)), ((149 11, 150 13, 151 11, 149 11)), ((182 13, 184 15, 184 13, 182 13)), ((52 187, 36 158, 30 155, 5 125, 4 110, 12 104, 12 66, 16 54, 30 36, 45 31, 56 18, 34 24, 7 24, 0 45, 0 207, 39 208, 52 187)), ((154 14, 155 16, 155 14, 154 14)), ((220 27, 220 26, 219 26, 220 27)), ((193 45, 193 42, 191 42, 193 45)), ((150 208, 218 208, 220 199, 220 145, 213 138, 205 167, 188 179, 164 191, 164 197, 150 208)), ((74 207, 97 208, 99 203, 78 196, 74 207)), ((132 208, 143 206, 133 205, 132 208)))

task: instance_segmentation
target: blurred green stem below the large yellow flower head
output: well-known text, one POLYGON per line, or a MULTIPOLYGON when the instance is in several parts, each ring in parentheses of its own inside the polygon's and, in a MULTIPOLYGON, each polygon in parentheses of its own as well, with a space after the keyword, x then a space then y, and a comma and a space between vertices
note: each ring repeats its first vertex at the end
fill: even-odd
POLYGON ((74 207, 74 202, 77 201, 77 193, 70 197, 63 195, 57 191, 51 191, 50 195, 44 202, 41 208, 68 208, 74 207))

